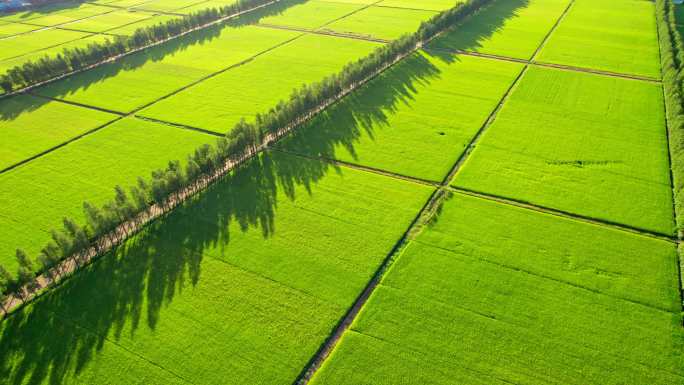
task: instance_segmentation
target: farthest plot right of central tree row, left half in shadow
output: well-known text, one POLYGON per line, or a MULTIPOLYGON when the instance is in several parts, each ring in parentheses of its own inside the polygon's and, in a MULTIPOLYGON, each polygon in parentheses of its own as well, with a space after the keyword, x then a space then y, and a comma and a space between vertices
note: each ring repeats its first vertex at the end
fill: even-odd
POLYGON ((569 0, 496 0, 430 47, 530 59, 569 0))

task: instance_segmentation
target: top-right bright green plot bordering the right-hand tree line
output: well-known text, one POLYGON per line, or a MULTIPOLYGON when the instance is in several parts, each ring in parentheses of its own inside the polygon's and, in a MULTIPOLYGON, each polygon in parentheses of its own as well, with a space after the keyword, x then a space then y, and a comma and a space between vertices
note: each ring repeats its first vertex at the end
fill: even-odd
POLYGON ((660 78, 654 3, 577 0, 539 61, 660 78))

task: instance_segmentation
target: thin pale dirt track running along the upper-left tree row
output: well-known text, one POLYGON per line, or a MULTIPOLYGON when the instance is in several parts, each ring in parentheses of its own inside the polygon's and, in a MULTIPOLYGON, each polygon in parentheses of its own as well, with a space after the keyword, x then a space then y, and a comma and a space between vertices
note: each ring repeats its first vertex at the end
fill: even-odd
MULTIPOLYGON (((221 23, 223 23, 223 22, 225 22, 225 21, 227 21, 227 20, 230 20, 230 19, 234 19, 234 18, 240 17, 240 16, 245 15, 245 14, 247 14, 247 13, 251 13, 251 12, 256 11, 256 10, 259 10, 259 9, 261 9, 261 8, 268 7, 268 6, 270 6, 270 5, 279 3, 279 2, 281 2, 281 1, 283 1, 283 0, 272 0, 272 1, 268 2, 268 3, 261 4, 261 5, 258 5, 258 6, 256 6, 256 7, 253 7, 253 8, 250 8, 250 9, 246 9, 246 10, 244 10, 244 11, 241 11, 241 12, 238 12, 238 13, 235 13, 235 14, 232 14, 232 15, 229 15, 229 16, 222 17, 222 18, 220 18, 220 19, 211 21, 211 22, 206 23, 206 24, 202 24, 202 25, 200 25, 200 26, 198 26, 198 27, 195 27, 195 28, 189 29, 189 30, 187 30, 187 31, 181 32, 181 33, 179 33, 179 34, 177 34, 177 35, 173 35, 173 36, 170 36, 170 37, 168 37, 168 38, 165 38, 165 39, 162 39, 162 40, 159 40, 159 41, 155 41, 155 42, 150 43, 150 44, 148 44, 148 45, 145 45, 145 46, 142 46, 142 47, 138 47, 138 48, 132 49, 132 50, 130 50, 130 51, 126 51, 126 52, 124 52, 124 53, 122 53, 122 54, 119 54, 119 55, 115 55, 115 56, 106 58, 106 59, 101 60, 101 61, 99 61, 99 62, 97 62, 97 63, 93 63, 93 64, 91 64, 91 65, 88 65, 88 66, 86 66, 86 67, 83 67, 83 68, 80 68, 80 69, 77 69, 77 70, 74 70, 74 71, 70 71, 70 72, 63 73, 63 74, 61 74, 61 75, 59 75, 59 76, 55 76, 55 77, 52 78, 52 79, 44 80, 44 81, 41 81, 41 82, 32 84, 32 85, 27 86, 27 87, 24 87, 24 88, 20 88, 20 89, 18 89, 18 90, 15 90, 15 91, 12 91, 12 92, 9 92, 9 93, 1 94, 1 95, 0 95, 0 100, 2 100, 2 99, 4 99, 4 98, 7 98, 7 97, 10 97, 10 96, 17 95, 17 94, 26 93, 27 91, 36 89, 36 88, 38 88, 38 87, 42 87, 42 86, 44 86, 44 85, 46 85, 46 84, 54 83, 54 82, 56 82, 56 81, 58 81, 58 80, 61 80, 61 79, 64 79, 64 78, 67 78, 67 77, 70 77, 70 76, 79 74, 79 73, 81 73, 81 72, 89 71, 89 70, 91 70, 91 69, 93 69, 93 68, 99 67, 99 66, 104 65, 104 64, 107 64, 107 63, 113 63, 113 62, 118 61, 119 59, 121 59, 121 58, 123 58, 123 57, 130 56, 130 55, 132 55, 132 54, 135 54, 135 53, 138 53, 138 52, 142 52, 142 51, 144 51, 144 50, 146 50, 146 49, 153 48, 153 47, 156 47, 156 46, 158 46, 158 45, 165 44, 165 43, 167 43, 167 42, 169 42, 169 41, 172 41, 172 40, 181 38, 181 37, 186 36, 186 35, 189 35, 189 34, 191 34, 191 33, 193 33, 193 32, 201 31, 201 30, 206 29, 206 28, 209 28, 209 27, 211 27, 211 26, 221 24, 221 23)), ((95 34, 93 34, 93 35, 95 35, 95 34)))

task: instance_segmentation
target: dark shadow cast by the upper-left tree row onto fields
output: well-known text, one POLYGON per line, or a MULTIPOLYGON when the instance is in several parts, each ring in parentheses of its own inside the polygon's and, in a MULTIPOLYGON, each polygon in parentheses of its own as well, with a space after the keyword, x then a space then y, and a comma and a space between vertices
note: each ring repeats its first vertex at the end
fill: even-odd
MULTIPOLYGON (((37 89, 36 92, 52 97, 63 97, 77 91, 87 90, 90 86, 104 82, 109 78, 119 75, 121 72, 139 69, 150 62, 161 62, 168 56, 177 55, 193 46, 204 45, 218 39, 224 33, 230 33, 231 29, 243 28, 258 23, 263 18, 280 15, 290 7, 307 1, 309 0, 279 1, 224 23, 189 33, 178 39, 173 39, 167 43, 126 56, 113 63, 100 65, 83 73, 48 84, 37 89)), ((49 99, 37 97, 23 98, 20 102, 13 102, 14 98, 16 96, 0 99, 0 123, 3 120, 14 120, 23 113, 37 110, 41 106, 52 102, 49 99)))

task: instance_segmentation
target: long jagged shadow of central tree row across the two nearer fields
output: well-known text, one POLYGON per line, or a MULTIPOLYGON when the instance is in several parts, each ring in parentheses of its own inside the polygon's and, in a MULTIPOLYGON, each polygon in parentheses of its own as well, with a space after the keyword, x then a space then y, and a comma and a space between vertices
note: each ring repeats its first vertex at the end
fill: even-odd
MULTIPOLYGON (((330 157, 339 144, 354 153, 359 136, 372 137, 400 103, 410 105, 418 97, 418 85, 439 76, 440 69, 425 56, 413 55, 289 141, 330 157)), ((279 203, 295 202, 302 191, 315 196, 314 186, 331 171, 344 172, 328 162, 278 151, 242 165, 4 320, 0 378, 12 384, 63 383, 82 373, 106 343, 135 338, 142 328, 155 330, 161 309, 200 281, 207 250, 228 250, 235 231, 273 237, 279 203)))

